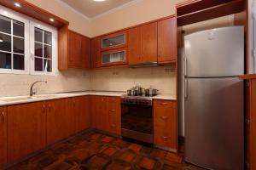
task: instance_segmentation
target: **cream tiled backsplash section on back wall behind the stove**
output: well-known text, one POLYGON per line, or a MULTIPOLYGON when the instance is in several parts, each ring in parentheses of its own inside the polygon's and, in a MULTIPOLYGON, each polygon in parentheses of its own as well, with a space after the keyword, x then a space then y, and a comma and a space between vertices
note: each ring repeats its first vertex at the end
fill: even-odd
POLYGON ((104 69, 90 72, 91 90, 126 91, 135 85, 153 86, 160 94, 176 94, 175 68, 160 66, 148 68, 104 69))

